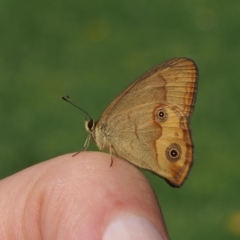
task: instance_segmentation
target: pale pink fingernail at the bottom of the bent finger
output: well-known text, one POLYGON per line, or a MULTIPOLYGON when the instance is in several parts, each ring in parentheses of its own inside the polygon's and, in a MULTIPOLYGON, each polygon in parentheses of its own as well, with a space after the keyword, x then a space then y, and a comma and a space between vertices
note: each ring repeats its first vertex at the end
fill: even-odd
POLYGON ((161 240, 165 239, 158 229, 146 218, 136 215, 122 215, 106 228, 103 240, 161 240))

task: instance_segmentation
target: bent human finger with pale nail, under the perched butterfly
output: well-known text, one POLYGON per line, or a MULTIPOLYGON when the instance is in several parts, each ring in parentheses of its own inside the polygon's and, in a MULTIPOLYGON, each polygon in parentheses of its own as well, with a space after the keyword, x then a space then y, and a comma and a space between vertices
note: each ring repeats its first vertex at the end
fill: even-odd
POLYGON ((0 181, 0 239, 169 239, 156 196, 128 162, 66 154, 0 181))

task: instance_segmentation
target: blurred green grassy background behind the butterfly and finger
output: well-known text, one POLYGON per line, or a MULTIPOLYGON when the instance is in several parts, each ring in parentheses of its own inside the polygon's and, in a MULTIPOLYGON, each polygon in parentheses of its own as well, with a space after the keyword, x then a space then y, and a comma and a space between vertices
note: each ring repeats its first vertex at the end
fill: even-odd
POLYGON ((239 239, 239 10, 233 0, 1 0, 0 177, 82 147, 85 115, 61 95, 98 119, 143 72, 190 57, 194 166, 180 189, 146 175, 172 239, 239 239))

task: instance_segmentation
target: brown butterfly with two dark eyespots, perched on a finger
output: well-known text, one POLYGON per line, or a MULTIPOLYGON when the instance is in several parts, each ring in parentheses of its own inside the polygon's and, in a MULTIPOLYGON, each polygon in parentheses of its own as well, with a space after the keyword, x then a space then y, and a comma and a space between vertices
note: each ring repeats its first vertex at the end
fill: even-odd
MULTIPOLYGON (((180 186, 193 163, 189 127, 198 83, 193 60, 174 58, 136 79, 103 112, 86 121, 89 140, 180 186)), ((66 99, 65 99, 66 100, 66 99)))

